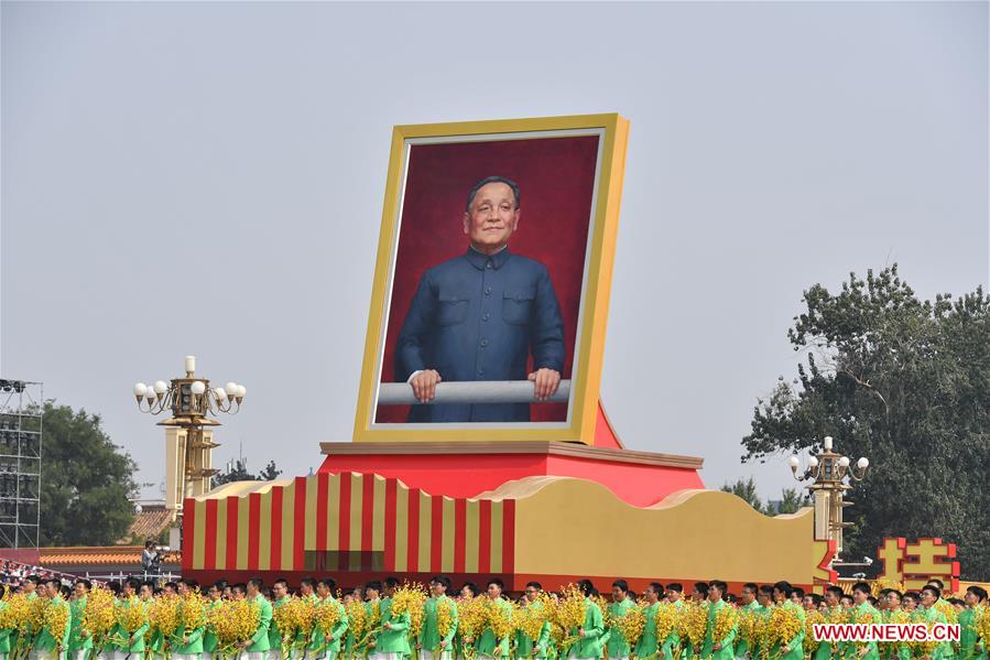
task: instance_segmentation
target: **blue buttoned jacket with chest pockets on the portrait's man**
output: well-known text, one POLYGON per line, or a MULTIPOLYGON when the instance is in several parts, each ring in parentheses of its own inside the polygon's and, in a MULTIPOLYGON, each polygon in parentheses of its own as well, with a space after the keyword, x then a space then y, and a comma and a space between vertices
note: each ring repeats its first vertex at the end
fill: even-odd
MULTIPOLYGON (((399 334, 395 378, 436 369, 444 382, 525 380, 564 371, 564 321, 546 267, 508 248, 472 248, 423 274, 399 334)), ((413 405, 410 422, 525 422, 529 403, 413 405)))

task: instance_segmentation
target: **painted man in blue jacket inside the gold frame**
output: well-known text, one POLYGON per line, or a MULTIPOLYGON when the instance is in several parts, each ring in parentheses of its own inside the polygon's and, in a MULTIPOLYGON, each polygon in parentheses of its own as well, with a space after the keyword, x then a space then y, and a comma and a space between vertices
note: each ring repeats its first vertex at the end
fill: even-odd
MULTIPOLYGON (((546 267, 509 251, 519 227, 519 186, 501 176, 468 193, 460 257, 423 274, 395 349, 395 377, 421 403, 442 380, 534 382, 537 400, 557 391, 564 321, 546 267), (533 371, 526 361, 533 355, 533 371)), ((410 422, 526 422, 529 403, 413 405, 410 422)))

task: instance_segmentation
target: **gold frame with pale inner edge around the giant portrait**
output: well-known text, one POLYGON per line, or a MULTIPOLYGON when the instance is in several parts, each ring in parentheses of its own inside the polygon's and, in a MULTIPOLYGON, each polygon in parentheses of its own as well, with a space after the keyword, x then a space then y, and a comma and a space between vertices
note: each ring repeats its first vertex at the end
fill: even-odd
POLYGON ((594 444, 628 134, 629 122, 618 113, 394 127, 355 414, 355 442, 538 440, 594 444), (573 347, 574 369, 567 419, 562 422, 490 424, 377 423, 374 415, 385 354, 387 327, 391 312, 389 305, 392 279, 395 277, 411 147, 424 141, 496 142, 569 136, 598 136, 598 161, 595 193, 589 204, 590 217, 584 257, 584 280, 580 288, 580 312, 577 316, 577 334, 573 347))

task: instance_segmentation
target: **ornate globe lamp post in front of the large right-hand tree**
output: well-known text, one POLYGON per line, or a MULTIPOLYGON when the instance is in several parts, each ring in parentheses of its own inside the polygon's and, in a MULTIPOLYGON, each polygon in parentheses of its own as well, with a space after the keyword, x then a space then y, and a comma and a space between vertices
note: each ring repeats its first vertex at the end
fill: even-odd
POLYGON ((863 457, 852 466, 848 456, 831 451, 831 436, 826 436, 822 444, 824 451, 808 457, 807 465, 799 476, 801 461, 797 456, 791 456, 787 463, 795 479, 812 482, 806 488, 812 491, 815 500, 815 540, 835 541, 836 555, 833 562, 838 562, 842 552, 842 530, 852 524, 842 521, 842 509, 853 504, 844 499, 844 494, 852 488, 846 479, 863 480, 870 461, 863 457))

